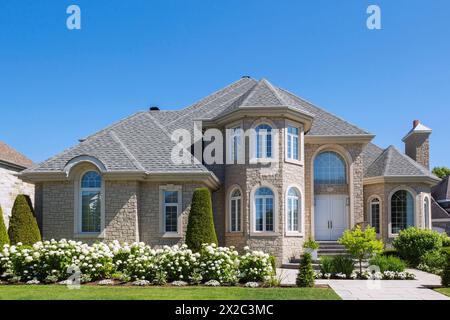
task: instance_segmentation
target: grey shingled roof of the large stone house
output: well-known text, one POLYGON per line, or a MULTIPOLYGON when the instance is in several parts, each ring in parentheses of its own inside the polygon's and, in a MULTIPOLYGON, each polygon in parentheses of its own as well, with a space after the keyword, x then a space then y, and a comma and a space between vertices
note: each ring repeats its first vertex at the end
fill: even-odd
MULTIPOLYGON (((93 156, 108 171, 205 172, 200 164, 175 165, 170 160, 174 143, 173 130, 193 129, 196 119, 213 119, 245 106, 289 106, 313 116, 307 135, 368 135, 353 124, 314 106, 294 94, 273 86, 265 79, 242 78, 214 92, 193 105, 174 111, 139 112, 85 139, 61 154, 26 172, 58 172, 77 156, 93 156)), ((430 175, 428 170, 398 152, 394 147, 383 149, 370 143, 363 152, 365 175, 430 175)))

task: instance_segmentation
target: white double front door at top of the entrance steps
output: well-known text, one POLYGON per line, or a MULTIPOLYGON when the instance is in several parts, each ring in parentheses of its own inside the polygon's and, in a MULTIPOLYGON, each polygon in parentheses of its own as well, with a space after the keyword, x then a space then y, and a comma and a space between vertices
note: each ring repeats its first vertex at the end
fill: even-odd
POLYGON ((334 241, 347 229, 347 196, 316 195, 314 209, 315 239, 334 241))

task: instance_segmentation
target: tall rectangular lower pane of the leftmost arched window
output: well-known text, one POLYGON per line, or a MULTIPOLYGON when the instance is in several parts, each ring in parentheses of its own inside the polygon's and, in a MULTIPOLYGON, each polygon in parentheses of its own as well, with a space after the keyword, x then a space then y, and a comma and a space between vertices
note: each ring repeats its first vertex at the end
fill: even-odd
POLYGON ((100 232, 100 192, 83 191, 81 193, 81 208, 81 232, 100 232))

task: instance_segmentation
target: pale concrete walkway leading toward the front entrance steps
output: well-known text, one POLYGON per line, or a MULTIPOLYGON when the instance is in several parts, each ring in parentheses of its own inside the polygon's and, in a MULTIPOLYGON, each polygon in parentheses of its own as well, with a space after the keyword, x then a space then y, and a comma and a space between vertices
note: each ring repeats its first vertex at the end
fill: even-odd
MULTIPOLYGON (((430 287, 440 285, 440 277, 419 270, 407 270, 416 280, 316 280, 329 285, 343 300, 450 300, 430 287)), ((296 270, 279 269, 282 284, 295 284, 296 270)))

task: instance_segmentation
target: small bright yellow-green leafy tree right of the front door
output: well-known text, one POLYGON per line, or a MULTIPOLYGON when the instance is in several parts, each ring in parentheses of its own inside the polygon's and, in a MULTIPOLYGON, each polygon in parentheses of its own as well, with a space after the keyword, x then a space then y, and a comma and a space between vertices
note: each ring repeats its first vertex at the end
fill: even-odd
POLYGON ((377 239, 375 228, 371 227, 362 230, 360 226, 357 226, 353 230, 347 230, 338 242, 345 246, 351 256, 358 259, 360 273, 362 273, 363 260, 381 253, 384 248, 383 242, 377 239))

